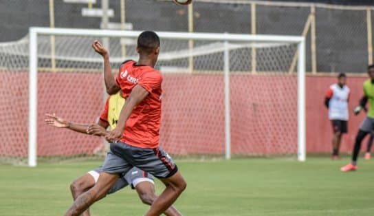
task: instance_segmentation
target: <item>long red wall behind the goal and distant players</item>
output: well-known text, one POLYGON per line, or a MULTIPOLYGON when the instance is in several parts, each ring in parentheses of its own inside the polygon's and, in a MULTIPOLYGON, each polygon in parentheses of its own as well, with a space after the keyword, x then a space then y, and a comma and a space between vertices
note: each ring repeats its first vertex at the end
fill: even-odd
MULTIPOLYGON (((347 79, 348 86, 351 88, 350 110, 353 110, 362 96, 362 83, 365 79, 364 77, 347 79)), ((2 140, 0 155, 25 156, 28 149, 28 102, 25 102, 28 101, 28 87, 27 85, 23 88, 14 87, 21 86, 16 83, 28 83, 28 74, 1 72, 0 80, 0 94, 5 98, 0 109, 1 122, 3 122, 1 125, 3 129, 0 131, 9 131, 7 134, 0 133, 2 140), (14 96, 23 99, 14 100, 14 96)), ((243 75, 232 76, 231 82, 232 101, 236 101, 232 102, 231 111, 232 153, 262 155, 296 152, 297 130, 294 123, 297 118, 296 77, 243 75), (256 85, 256 83, 267 85, 256 85), (287 85, 294 89, 292 94, 272 98, 269 93, 265 93, 270 86, 277 89, 287 85), (248 92, 256 93, 243 97, 240 90, 243 86, 250 88, 248 92), (266 101, 268 105, 276 102, 276 106, 268 106, 265 104, 266 101), (256 103, 258 105, 254 106, 256 103), (283 108, 287 110, 284 111, 283 108), (272 115, 275 109, 280 109, 276 113, 284 112, 284 115, 272 115), (248 129, 248 135, 245 130, 238 130, 244 126, 248 129), (260 133, 262 138, 250 137, 250 134, 254 133, 260 133), (287 136, 284 133, 287 133, 287 136), (292 143, 292 148, 270 146, 276 142, 287 145, 292 143)), ((323 102, 327 88, 335 82, 336 78, 331 76, 307 76, 308 153, 331 151, 332 129, 323 102)), ((224 152, 223 78, 217 75, 165 74, 163 88, 160 138, 162 146, 170 153, 178 155, 222 154, 224 152), (217 89, 217 86, 222 86, 222 89, 217 89), (209 95, 210 87, 216 88, 217 94, 209 95), (184 97, 180 97, 181 95, 184 97), (191 106, 195 96, 206 96, 206 98, 199 100, 199 105, 191 106), (212 106, 214 109, 206 109, 212 106)), ((39 73, 38 155, 80 155, 102 150, 104 146, 100 138, 67 130, 56 130, 48 127, 44 122, 46 113, 56 113, 74 122, 95 122, 104 105, 102 98, 101 74, 39 73), (72 88, 87 81, 90 83, 89 86, 72 88)), ((363 113, 359 116, 351 114, 349 133, 344 135, 342 140, 343 152, 351 151, 355 133, 364 116, 363 113)))

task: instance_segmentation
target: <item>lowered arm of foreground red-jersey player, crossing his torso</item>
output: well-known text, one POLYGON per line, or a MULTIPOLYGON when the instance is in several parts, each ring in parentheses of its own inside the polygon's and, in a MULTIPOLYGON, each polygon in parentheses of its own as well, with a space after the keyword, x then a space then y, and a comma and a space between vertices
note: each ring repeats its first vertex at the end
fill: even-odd
POLYGON ((126 126, 126 121, 129 119, 133 109, 136 105, 138 105, 146 96, 148 96, 149 92, 144 89, 141 85, 135 85, 129 98, 127 98, 124 106, 122 107, 120 119, 118 120, 117 127, 110 131, 105 138, 107 140, 120 140, 122 138, 122 133, 124 131, 124 127, 126 126))

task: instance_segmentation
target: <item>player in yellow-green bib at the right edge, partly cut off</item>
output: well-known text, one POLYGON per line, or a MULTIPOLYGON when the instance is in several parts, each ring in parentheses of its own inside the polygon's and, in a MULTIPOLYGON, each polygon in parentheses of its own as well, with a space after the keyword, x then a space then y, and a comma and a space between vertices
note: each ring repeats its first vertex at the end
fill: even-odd
POLYGON ((343 172, 356 171, 358 169, 357 160, 361 149, 361 142, 365 136, 374 132, 374 65, 368 67, 369 79, 364 82, 364 96, 360 100, 360 105, 355 108, 354 113, 358 115, 362 109, 365 109, 366 102, 369 100, 369 111, 362 122, 353 147, 352 162, 343 166, 340 170, 343 172))

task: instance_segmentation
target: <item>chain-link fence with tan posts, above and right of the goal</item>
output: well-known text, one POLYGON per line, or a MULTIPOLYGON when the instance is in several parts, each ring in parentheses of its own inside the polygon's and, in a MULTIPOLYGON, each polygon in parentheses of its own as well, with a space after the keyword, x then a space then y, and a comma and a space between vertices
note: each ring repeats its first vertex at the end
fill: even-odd
MULTIPOLYGON (((82 13, 83 8, 102 8, 102 2, 0 0, 0 41, 20 39, 32 25, 102 28, 101 17, 82 13)), ((374 6, 250 0, 194 0, 177 6, 169 0, 111 0, 109 9, 109 28, 303 35, 311 73, 360 73, 373 63, 374 6)))

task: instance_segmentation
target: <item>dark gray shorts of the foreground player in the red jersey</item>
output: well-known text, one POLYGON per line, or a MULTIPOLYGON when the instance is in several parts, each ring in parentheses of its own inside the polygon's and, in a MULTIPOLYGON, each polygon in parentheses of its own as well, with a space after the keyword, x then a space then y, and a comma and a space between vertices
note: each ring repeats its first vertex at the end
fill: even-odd
POLYGON ((178 168, 172 158, 161 148, 143 149, 123 142, 111 143, 102 165, 106 173, 127 173, 136 166, 158 178, 170 177, 178 168))

